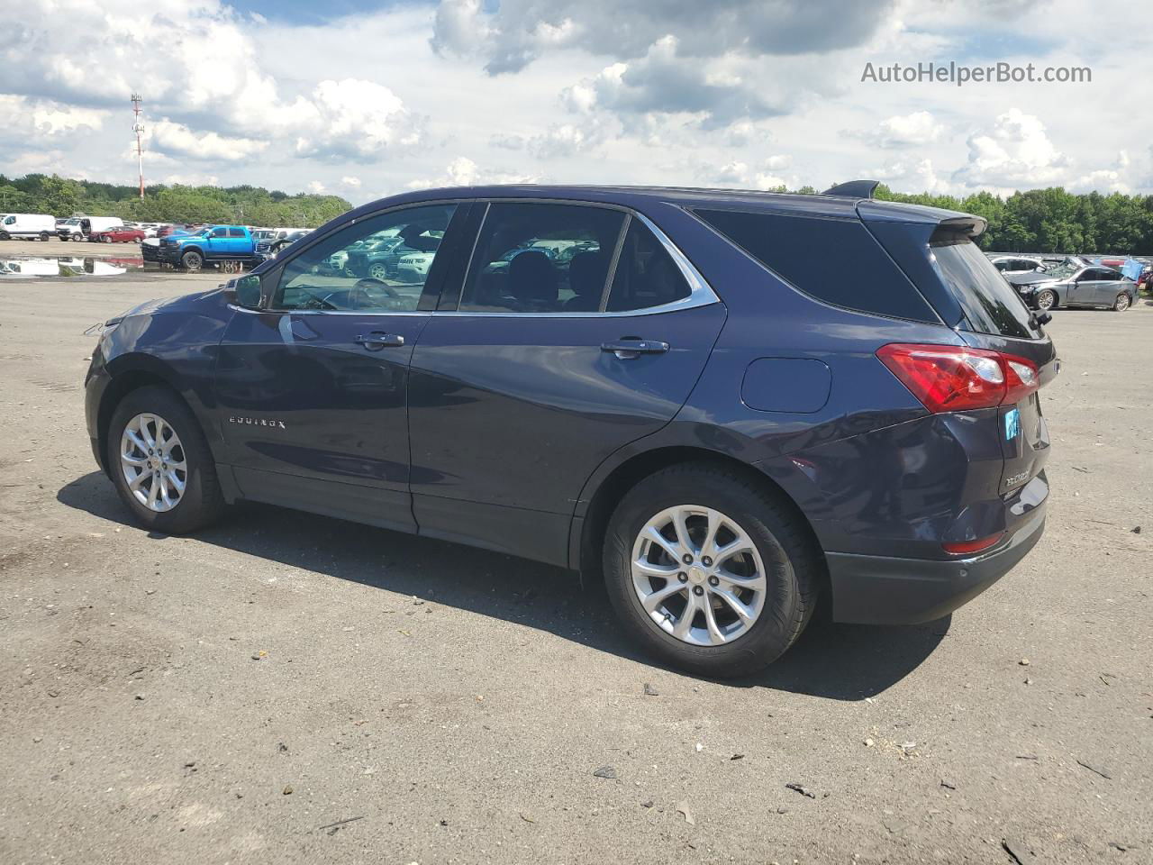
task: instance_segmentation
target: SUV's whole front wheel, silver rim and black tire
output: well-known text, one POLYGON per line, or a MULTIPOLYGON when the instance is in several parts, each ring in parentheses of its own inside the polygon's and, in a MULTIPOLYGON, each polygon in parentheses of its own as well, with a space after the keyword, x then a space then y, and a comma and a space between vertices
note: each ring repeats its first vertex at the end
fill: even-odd
POLYGON ((106 459, 116 492, 145 528, 194 532, 224 510, 204 434, 166 388, 141 388, 121 400, 108 426, 106 459))

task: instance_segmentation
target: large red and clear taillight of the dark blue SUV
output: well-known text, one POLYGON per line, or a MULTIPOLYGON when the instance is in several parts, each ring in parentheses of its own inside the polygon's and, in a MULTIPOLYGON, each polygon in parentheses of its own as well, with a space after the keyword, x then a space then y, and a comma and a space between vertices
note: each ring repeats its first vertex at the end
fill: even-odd
POLYGON ((876 356, 933 413, 1019 403, 1040 384, 1031 361, 984 348, 891 343, 876 356))

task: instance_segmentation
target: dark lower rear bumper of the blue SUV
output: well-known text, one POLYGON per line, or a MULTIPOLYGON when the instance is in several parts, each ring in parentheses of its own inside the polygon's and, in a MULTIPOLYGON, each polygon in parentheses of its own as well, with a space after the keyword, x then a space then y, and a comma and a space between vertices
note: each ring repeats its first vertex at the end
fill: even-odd
POLYGON ((828 552, 832 618, 911 625, 945 616, 1004 577, 1045 531, 1045 505, 993 551, 948 562, 828 552))

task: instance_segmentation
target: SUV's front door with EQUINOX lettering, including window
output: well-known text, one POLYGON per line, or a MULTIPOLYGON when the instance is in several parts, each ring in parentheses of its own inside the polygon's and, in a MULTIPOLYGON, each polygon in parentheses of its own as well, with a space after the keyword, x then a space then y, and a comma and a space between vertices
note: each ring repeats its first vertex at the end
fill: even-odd
POLYGON ((423 234, 439 262, 455 211, 453 203, 401 208, 317 238, 264 274, 262 309, 232 318, 216 392, 226 459, 246 497, 415 529, 408 364, 442 269, 401 283, 326 262, 398 226, 423 234))

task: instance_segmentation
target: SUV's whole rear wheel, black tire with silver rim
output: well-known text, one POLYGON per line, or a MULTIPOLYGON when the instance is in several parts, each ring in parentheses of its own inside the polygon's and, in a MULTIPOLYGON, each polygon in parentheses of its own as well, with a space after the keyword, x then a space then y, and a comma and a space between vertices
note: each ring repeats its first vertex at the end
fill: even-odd
MULTIPOLYGON (((672 532, 671 528, 665 531, 672 532)), ((684 549, 676 543, 672 546, 684 549)), ((738 472, 703 462, 662 469, 633 487, 609 520, 603 548, 609 599, 632 638, 670 665, 714 678, 755 672, 796 642, 816 607, 822 566, 821 552, 807 526, 777 496, 738 472), (698 512, 693 513, 693 509, 698 512), (718 524, 725 526, 717 534, 717 540, 723 540, 721 546, 737 537, 731 531, 736 527, 751 542, 746 548, 749 552, 716 563, 701 555, 701 533, 713 519, 704 516, 704 511, 716 514, 718 524), (648 541, 648 535, 641 536, 642 531, 670 513, 689 514, 685 526, 691 535, 689 543, 694 544, 693 556, 699 556, 692 564, 681 562, 673 569, 677 586, 684 589, 675 586, 672 577, 668 580, 656 578, 653 582, 645 576, 634 579, 634 558, 649 563, 655 552, 663 559, 655 563, 656 567, 672 567, 673 559, 648 541), (717 569, 722 564, 726 567, 709 571, 706 563, 709 567, 714 564, 717 569), (717 579, 714 574, 731 573, 732 567, 744 570, 746 577, 763 577, 763 596, 759 601, 755 592, 728 589, 744 602, 744 609, 755 609, 755 617, 747 624, 738 619, 734 608, 726 604, 719 593, 726 587, 754 584, 714 582, 717 579), (636 580, 643 587, 639 587, 636 580), (710 586, 717 586, 716 594, 710 586), (665 591, 670 607, 683 604, 681 610, 688 609, 692 595, 702 599, 696 602, 702 606, 689 619, 687 637, 673 634, 680 630, 685 612, 679 612, 673 620, 664 601, 657 603, 654 614, 642 606, 642 592, 660 596, 665 591), (708 599, 710 615, 706 615, 703 599, 708 599), (729 622, 722 622, 723 617, 729 622), (658 624, 658 618, 663 625, 658 624), (718 632, 726 627, 736 630, 715 640, 711 629, 706 627, 710 623, 716 623, 718 632)))

